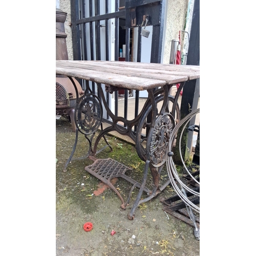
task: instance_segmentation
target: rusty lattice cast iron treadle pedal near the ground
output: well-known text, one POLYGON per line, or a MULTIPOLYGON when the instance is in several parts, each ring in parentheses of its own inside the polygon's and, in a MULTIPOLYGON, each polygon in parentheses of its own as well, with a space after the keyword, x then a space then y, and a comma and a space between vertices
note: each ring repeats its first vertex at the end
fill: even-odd
MULTIPOLYGON (((121 199, 121 201, 123 203, 121 207, 125 209, 126 205, 129 203, 130 196, 129 196, 128 201, 125 203, 122 196, 118 192, 118 190, 115 188, 115 186, 110 181, 113 178, 121 177, 121 178, 131 182, 132 184, 134 184, 134 186, 140 187, 141 184, 139 182, 137 182, 136 180, 125 175, 125 172, 127 170, 132 170, 132 169, 115 161, 112 158, 107 158, 107 159, 96 159, 94 157, 89 157, 89 158, 92 160, 95 160, 95 161, 93 164, 85 167, 87 172, 92 174, 99 180, 103 181, 105 184, 109 185, 116 192, 118 197, 121 199)), ((144 187, 144 191, 146 193, 150 193, 150 194, 152 193, 152 191, 146 187, 144 187)), ((131 194, 131 192, 130 192, 130 194, 131 194)))

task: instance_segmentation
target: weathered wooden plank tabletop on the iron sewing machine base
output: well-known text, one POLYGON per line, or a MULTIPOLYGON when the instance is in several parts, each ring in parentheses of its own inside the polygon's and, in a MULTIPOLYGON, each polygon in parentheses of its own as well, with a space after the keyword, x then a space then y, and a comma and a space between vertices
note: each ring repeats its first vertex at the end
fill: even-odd
POLYGON ((199 66, 103 60, 56 60, 56 74, 147 90, 200 77, 199 66))

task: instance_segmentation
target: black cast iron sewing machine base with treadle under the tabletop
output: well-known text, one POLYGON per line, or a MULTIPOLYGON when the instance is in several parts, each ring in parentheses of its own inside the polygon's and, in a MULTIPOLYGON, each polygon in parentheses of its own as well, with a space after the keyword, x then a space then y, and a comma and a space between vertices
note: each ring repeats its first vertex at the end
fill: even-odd
MULTIPOLYGON (((98 87, 98 96, 93 93, 86 94, 82 96, 76 104, 75 115, 77 116, 76 125, 76 140, 72 150, 72 153, 65 164, 64 172, 67 171, 68 164, 73 160, 85 159, 87 157, 91 158, 95 162, 92 165, 87 166, 85 169, 97 177, 99 180, 103 181, 105 184, 108 184, 118 195, 120 200, 122 201, 121 208, 125 209, 126 206, 130 202, 131 195, 133 193, 134 188, 138 187, 139 191, 136 197, 136 200, 128 214, 128 218, 130 220, 134 219, 134 212, 137 207, 147 202, 154 197, 156 197, 169 183, 169 179, 160 186, 160 174, 163 169, 165 163, 165 155, 167 154, 168 142, 170 134, 172 133, 173 127, 176 123, 179 122, 180 118, 180 110, 179 106, 177 106, 177 100, 175 100, 172 96, 169 95, 169 87, 166 85, 162 89, 154 91, 153 89, 148 89, 148 98, 143 106, 142 111, 133 119, 127 120, 123 117, 116 116, 110 110, 103 89, 100 83, 96 83, 98 87), (158 95, 161 96, 158 96, 158 95), (99 100, 101 99, 101 100, 99 100), (161 109, 158 109, 157 104, 162 102, 161 109), (101 103, 104 105, 106 112, 112 118, 112 125, 102 128, 101 123, 101 103), (170 112, 169 103, 173 104, 172 112, 174 111, 174 115, 170 112), (177 115, 177 119, 174 119, 174 116, 177 115), (146 122, 146 118, 148 116, 152 117, 152 121, 150 123, 146 123, 146 126, 150 128, 150 133, 145 139, 146 148, 142 146, 141 141, 141 130, 144 127, 146 122), (122 122, 124 125, 119 125, 119 122, 122 122), (99 123, 101 123, 101 131, 95 138, 95 142, 93 145, 94 135, 96 130, 99 128, 99 123), (133 127, 138 127, 137 133, 134 134, 133 127), (131 179, 130 177, 125 175, 126 170, 131 170, 131 168, 118 163, 113 159, 96 159, 96 155, 104 150, 106 147, 110 147, 112 151, 112 147, 105 139, 105 135, 111 131, 117 131, 120 134, 129 136, 136 145, 136 150, 139 157, 145 161, 144 166, 144 174, 143 178, 140 182, 131 179), (84 137, 89 142, 88 152, 85 156, 79 158, 73 158, 77 141, 78 141, 78 132, 82 133, 84 137), (89 135, 91 137, 89 137, 89 135), (103 146, 100 150, 97 150, 100 139, 103 138, 105 140, 106 145, 103 146), (159 143, 158 143, 159 142, 159 143), (153 178, 153 188, 146 188, 146 180, 148 170, 150 170, 152 178, 153 178), (114 177, 121 177, 125 180, 131 182, 133 184, 130 194, 125 202, 118 190, 111 184, 110 180, 114 177), (147 194, 144 199, 141 199, 143 191, 147 194)), ((87 85, 88 87, 88 85, 87 85)), ((106 86, 105 90, 110 89, 110 87, 106 86)), ((86 92, 90 92, 89 88, 85 90, 86 92)))

